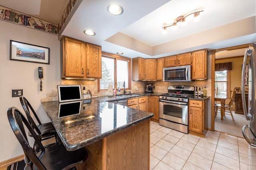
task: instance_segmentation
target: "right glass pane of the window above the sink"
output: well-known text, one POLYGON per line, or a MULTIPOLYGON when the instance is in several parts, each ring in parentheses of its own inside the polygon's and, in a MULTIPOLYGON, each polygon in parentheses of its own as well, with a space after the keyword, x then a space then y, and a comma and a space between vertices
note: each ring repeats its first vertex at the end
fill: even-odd
POLYGON ((116 80, 117 80, 117 89, 124 88, 123 84, 125 81, 125 88, 128 88, 128 61, 117 60, 116 61, 116 80))

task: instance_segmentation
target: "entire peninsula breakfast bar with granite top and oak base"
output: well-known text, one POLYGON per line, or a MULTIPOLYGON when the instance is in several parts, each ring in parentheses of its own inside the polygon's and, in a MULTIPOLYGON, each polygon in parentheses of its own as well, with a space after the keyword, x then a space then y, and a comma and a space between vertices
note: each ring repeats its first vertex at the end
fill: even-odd
POLYGON ((86 169, 149 169, 152 113, 100 99, 76 103, 64 107, 64 116, 58 101, 42 106, 67 150, 86 148, 86 169))

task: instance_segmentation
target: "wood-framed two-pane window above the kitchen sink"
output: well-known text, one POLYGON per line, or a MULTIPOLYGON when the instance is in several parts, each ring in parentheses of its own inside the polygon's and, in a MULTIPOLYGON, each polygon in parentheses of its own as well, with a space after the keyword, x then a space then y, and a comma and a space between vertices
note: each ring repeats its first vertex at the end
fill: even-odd
POLYGON ((102 53, 102 79, 98 81, 99 91, 106 91, 108 85, 113 85, 113 88, 130 89, 130 73, 131 73, 131 59, 114 55, 110 53, 102 53))

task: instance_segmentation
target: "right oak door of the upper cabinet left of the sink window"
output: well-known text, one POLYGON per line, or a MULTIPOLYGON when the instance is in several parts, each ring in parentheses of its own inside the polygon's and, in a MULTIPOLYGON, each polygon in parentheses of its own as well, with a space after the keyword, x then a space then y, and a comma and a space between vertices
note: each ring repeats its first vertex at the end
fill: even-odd
POLYGON ((86 43, 86 77, 101 78, 101 47, 86 43))

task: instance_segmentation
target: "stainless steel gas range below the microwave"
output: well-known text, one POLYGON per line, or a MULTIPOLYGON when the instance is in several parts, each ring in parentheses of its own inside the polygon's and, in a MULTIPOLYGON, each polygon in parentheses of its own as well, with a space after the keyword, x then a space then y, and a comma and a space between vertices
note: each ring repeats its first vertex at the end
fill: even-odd
POLYGON ((170 85, 159 97, 159 125, 188 134, 188 98, 194 86, 170 85))

